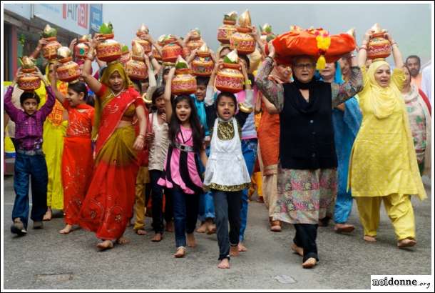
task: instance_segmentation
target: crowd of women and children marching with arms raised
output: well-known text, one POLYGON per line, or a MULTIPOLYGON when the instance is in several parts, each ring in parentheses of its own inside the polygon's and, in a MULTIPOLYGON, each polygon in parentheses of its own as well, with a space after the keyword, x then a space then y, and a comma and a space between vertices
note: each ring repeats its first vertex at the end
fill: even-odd
MULTIPOLYGON (((31 182, 34 229, 61 209, 61 234, 82 227, 101 240, 99 249, 110 249, 128 242, 123 234, 131 225, 146 234, 151 214, 151 241, 175 232, 177 258, 187 247, 194 251, 195 232, 215 233, 218 267, 225 269, 230 257, 247 251, 252 185, 271 231, 294 224, 292 250, 304 268, 319 261, 319 226, 333 219, 337 233, 354 230, 348 223, 353 199, 364 240, 376 242, 384 202, 397 247, 414 246, 410 197, 426 198, 421 176, 431 176, 430 71, 421 74, 418 56, 404 61, 388 33, 394 69, 367 60, 369 30, 356 56, 345 54, 317 71, 314 56, 280 63, 272 42, 266 50, 252 31, 257 49, 239 56, 244 89, 237 94, 215 88, 232 51, 225 44, 212 54, 212 74, 196 77, 193 95, 171 93, 175 67, 153 54, 143 54, 145 80, 132 80, 118 61, 96 59, 98 36, 79 81, 58 81, 58 64, 50 61, 44 76, 36 71, 41 87, 23 92, 16 87, 19 69, 4 96, 15 124, 11 232, 27 233, 31 182), (92 74, 94 61, 100 68, 92 74)), ((178 39, 180 46, 190 36, 178 39)), ((161 51, 152 37, 147 40, 161 51)), ((44 44, 41 39, 34 58, 44 44)))

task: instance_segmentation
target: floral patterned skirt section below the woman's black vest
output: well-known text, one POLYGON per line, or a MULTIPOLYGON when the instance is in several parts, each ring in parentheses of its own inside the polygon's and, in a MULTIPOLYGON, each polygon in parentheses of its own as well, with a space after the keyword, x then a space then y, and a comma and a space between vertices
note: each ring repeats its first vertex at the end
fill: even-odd
POLYGON ((274 220, 317 224, 332 217, 337 195, 337 169, 279 169, 274 220))

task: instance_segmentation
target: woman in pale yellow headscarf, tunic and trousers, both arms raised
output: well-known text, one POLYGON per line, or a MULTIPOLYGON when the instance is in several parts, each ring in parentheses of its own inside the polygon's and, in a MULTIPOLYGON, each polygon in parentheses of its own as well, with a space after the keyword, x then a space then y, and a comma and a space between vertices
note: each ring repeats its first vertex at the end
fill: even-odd
POLYGON ((379 208, 384 202, 399 248, 416 244, 411 194, 426 198, 417 166, 414 143, 401 89, 405 75, 397 43, 391 42, 395 69, 374 60, 366 70, 367 31, 360 47, 358 64, 362 69, 364 89, 359 95, 362 125, 354 141, 349 163, 349 188, 357 200, 364 240, 375 242, 379 226, 379 208))

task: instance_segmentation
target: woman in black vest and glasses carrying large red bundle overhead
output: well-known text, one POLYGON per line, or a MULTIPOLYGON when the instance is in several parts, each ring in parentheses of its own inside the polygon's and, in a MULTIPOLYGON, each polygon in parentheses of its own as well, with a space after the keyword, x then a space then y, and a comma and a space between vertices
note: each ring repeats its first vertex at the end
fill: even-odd
POLYGON ((278 200, 273 219, 295 224, 292 249, 303 257, 302 267, 318 262, 319 219, 337 194, 337 155, 334 149, 332 108, 362 89, 362 75, 352 60, 352 77, 344 84, 314 79, 313 56, 292 58, 294 82, 277 84, 267 76, 273 68, 275 48, 257 75, 257 87, 280 112, 280 166, 278 200))

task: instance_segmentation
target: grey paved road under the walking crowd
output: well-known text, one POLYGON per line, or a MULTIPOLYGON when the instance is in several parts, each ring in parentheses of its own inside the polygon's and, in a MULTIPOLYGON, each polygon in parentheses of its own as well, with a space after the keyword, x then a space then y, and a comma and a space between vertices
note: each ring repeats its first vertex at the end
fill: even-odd
MULTIPOLYGON (((366 244, 354 207, 349 222, 357 229, 350 235, 335 234, 332 226, 319 228, 320 263, 302 269, 301 259, 290 251, 294 229, 267 229, 262 204, 250 203, 246 234, 248 252, 233 258, 229 270, 217 269, 215 235, 197 234, 198 247, 185 259, 174 259, 173 234, 160 243, 148 234, 128 229, 131 243, 97 252, 97 239, 77 230, 61 235, 63 219, 46 222, 44 229, 29 229, 26 237, 9 232, 14 202, 13 178, 4 177, 4 289, 370 289, 371 274, 431 274, 431 195, 413 199, 418 246, 396 249, 391 223, 382 211, 378 242, 366 244), (289 276, 292 284, 274 279, 289 276)), ((31 223, 29 224, 31 227, 31 223)))

